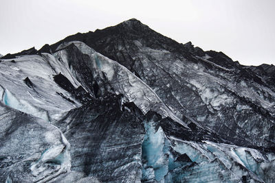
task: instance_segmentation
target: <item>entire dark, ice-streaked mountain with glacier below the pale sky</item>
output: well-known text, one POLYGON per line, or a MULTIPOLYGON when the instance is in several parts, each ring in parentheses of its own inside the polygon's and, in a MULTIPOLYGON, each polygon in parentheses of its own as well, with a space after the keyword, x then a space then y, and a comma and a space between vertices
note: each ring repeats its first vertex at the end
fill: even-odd
POLYGON ((136 19, 0 62, 0 182, 274 182, 274 66, 136 19))

